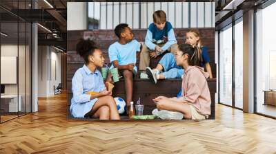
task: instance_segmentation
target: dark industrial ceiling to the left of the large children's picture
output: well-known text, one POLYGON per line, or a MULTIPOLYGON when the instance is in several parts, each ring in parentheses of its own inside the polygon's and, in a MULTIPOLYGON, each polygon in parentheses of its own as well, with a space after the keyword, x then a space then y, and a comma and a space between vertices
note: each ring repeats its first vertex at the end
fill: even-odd
POLYGON ((35 22, 41 25, 38 26, 39 45, 55 45, 66 50, 66 6, 66 0, 1 0, 1 32, 8 34, 1 41, 17 42, 26 38, 25 24, 35 22))

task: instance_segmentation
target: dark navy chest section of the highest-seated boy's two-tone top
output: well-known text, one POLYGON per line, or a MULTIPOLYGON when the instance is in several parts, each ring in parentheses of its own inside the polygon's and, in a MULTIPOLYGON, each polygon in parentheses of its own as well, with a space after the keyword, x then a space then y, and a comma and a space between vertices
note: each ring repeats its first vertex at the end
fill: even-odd
MULTIPOLYGON (((159 30, 155 23, 150 23, 148 26, 148 30, 152 32, 152 39, 155 39, 155 41, 164 40, 168 38, 168 32, 172 29, 172 24, 168 21, 165 23, 165 27, 163 30, 159 30)), ((168 39, 167 39, 168 40, 168 39)))

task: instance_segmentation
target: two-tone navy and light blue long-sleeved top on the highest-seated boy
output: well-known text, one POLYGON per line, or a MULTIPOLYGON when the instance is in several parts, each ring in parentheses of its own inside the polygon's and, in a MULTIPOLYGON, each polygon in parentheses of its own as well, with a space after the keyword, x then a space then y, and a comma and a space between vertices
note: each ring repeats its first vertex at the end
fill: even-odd
POLYGON ((155 23, 150 23, 148 26, 148 31, 146 34, 145 44, 150 50, 155 50, 155 41, 164 41, 166 42, 162 50, 168 50, 170 45, 176 44, 177 39, 175 39, 175 32, 173 32, 172 24, 166 21, 165 27, 163 30, 159 30, 155 23))

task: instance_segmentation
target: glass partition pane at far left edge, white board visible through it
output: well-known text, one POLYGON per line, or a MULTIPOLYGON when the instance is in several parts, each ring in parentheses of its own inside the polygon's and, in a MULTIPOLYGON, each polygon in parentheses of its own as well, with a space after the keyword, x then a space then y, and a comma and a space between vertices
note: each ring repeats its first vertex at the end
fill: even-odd
POLYGON ((21 111, 17 94, 18 50, 18 23, 1 23, 1 122, 16 118, 17 111, 21 111))

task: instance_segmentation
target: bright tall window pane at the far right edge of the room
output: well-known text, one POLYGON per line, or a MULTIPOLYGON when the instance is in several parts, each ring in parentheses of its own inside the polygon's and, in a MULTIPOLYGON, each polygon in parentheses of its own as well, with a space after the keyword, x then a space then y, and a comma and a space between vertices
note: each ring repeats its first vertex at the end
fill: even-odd
POLYGON ((257 112, 276 117, 276 3, 257 12, 257 112), (271 91, 270 91, 271 90, 271 91), (267 91, 267 92, 265 92, 267 91), (267 94, 267 95, 266 95, 267 94), (271 105, 271 104, 274 104, 271 105))

